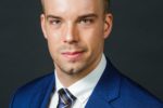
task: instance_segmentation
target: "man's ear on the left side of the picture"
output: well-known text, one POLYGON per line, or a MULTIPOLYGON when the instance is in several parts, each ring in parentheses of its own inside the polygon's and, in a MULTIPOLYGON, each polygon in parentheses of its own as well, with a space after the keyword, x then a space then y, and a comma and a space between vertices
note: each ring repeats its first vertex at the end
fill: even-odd
POLYGON ((46 16, 45 16, 45 14, 40 15, 40 25, 41 25, 42 33, 43 33, 45 38, 47 39, 46 16))

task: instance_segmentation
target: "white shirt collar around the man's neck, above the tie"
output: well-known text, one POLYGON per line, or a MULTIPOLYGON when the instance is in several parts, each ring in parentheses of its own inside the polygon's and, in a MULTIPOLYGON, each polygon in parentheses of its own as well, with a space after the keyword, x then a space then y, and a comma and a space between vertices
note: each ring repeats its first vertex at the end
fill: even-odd
MULTIPOLYGON (((98 64, 98 66, 90 73, 88 73, 86 77, 84 77, 79 81, 77 81, 74 84, 72 84, 71 86, 68 86, 67 87, 68 91, 75 97, 77 97, 77 99, 79 102, 85 103, 85 100, 87 100, 89 98, 95 86, 97 85, 100 77, 102 76, 102 73, 105 69, 105 66, 106 66, 106 59, 105 59, 104 54, 102 54, 101 60, 98 64)), ((60 82, 60 80, 57 76, 57 72, 55 72, 55 86, 57 86, 57 91, 64 87, 62 85, 62 83, 60 82)))

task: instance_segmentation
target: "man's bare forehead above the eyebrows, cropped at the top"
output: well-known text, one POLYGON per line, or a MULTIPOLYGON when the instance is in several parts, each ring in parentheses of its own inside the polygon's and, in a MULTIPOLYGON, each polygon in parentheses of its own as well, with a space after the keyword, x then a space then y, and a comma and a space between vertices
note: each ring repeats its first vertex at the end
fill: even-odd
POLYGON ((45 13, 83 13, 103 10, 102 0, 42 0, 45 13))

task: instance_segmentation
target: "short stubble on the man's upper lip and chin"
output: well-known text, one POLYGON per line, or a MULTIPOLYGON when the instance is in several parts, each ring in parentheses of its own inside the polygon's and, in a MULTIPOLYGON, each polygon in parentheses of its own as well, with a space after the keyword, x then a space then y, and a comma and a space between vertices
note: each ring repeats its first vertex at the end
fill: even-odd
MULTIPOLYGON (((79 44, 62 46, 62 48, 60 48, 59 52, 71 51, 73 49, 75 49, 77 51, 83 51, 84 52, 83 57, 88 52, 88 49, 85 45, 79 45, 79 44)), ((63 72, 67 76, 79 75, 80 72, 85 71, 85 69, 88 68, 88 64, 90 63, 89 57, 88 58, 84 57, 84 58, 79 58, 79 59, 74 59, 74 60, 70 60, 66 63, 63 62, 64 59, 60 59, 60 58, 55 58, 53 60, 54 60, 54 66, 55 66, 57 71, 63 72)))

